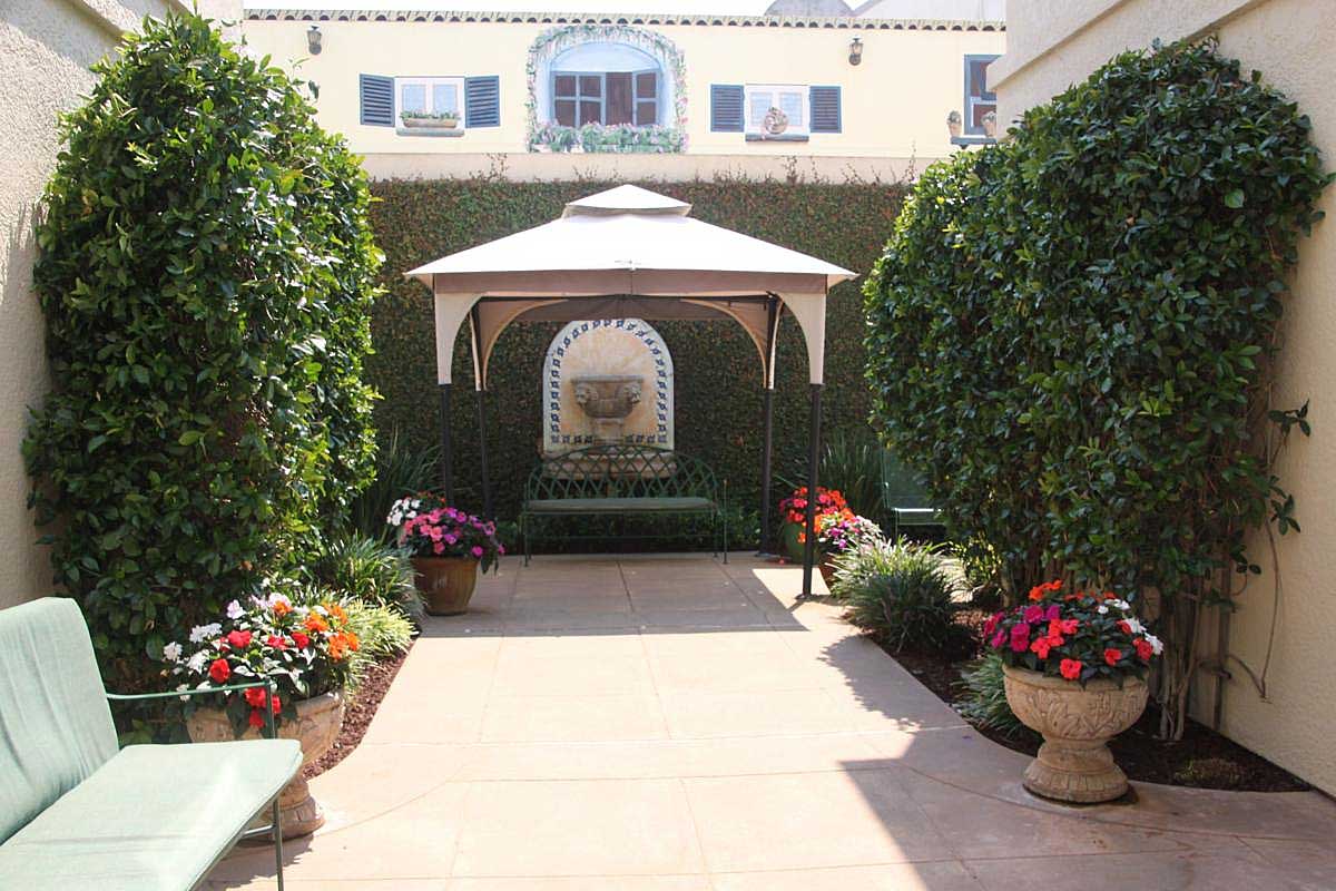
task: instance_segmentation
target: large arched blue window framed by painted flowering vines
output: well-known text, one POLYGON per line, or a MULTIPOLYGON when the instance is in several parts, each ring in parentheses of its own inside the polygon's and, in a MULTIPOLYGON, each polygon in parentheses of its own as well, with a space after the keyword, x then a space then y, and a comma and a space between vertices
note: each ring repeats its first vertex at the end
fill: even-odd
POLYGON ((627 25, 566 25, 529 49, 532 151, 676 152, 685 146, 681 55, 627 25))

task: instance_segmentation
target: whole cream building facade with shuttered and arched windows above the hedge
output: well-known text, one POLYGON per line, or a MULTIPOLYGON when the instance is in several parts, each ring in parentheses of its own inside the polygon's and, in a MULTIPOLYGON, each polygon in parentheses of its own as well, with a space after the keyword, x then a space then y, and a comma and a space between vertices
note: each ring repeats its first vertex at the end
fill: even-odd
POLYGON ((1005 41, 985 20, 261 7, 243 31, 309 83, 322 126, 373 175, 502 158, 518 178, 607 170, 608 156, 665 178, 784 159, 922 166, 991 138, 985 75, 1005 41))

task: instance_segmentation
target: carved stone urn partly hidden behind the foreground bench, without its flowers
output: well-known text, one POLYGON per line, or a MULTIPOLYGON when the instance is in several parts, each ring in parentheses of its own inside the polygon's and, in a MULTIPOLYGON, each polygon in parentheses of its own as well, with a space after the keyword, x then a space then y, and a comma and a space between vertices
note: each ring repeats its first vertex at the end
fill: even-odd
MULTIPOLYGON (((307 764, 329 751, 334 740, 338 739, 342 724, 343 695, 339 692, 325 693, 315 699, 298 701, 297 720, 279 724, 278 736, 301 743, 302 768, 306 768, 307 764)), ((190 732, 192 743, 227 743, 236 739, 231 721, 227 720, 227 713, 220 708, 196 711, 186 720, 186 729, 190 732)), ((257 740, 262 736, 259 729, 250 727, 246 728, 242 739, 257 740)), ((278 820, 283 827, 285 839, 310 835, 325 826, 325 811, 321 810, 319 801, 311 797, 311 791, 301 771, 278 793, 278 820)), ((261 824, 266 822, 265 816, 259 818, 261 824)))

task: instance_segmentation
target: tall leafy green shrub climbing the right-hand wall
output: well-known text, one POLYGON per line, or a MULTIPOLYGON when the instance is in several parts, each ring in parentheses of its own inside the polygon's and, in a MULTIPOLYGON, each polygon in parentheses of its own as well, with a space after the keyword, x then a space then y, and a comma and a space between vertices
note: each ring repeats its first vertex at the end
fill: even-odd
POLYGON ((1213 45, 1129 52, 930 168, 866 286, 875 421, 1013 590, 1157 594, 1168 735, 1198 606, 1248 528, 1293 525, 1271 466, 1307 421, 1267 370, 1327 182, 1309 122, 1213 45))

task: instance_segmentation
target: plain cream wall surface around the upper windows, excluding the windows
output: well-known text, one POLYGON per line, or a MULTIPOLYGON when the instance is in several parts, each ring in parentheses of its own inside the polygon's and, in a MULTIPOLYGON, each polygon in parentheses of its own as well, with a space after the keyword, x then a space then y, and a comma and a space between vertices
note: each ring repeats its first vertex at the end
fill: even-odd
MULTIPOLYGON (((247 20, 255 51, 319 85, 321 123, 347 135, 370 158, 525 152, 525 64, 540 23, 321 21, 323 49, 310 56, 309 21, 247 20), (501 126, 462 138, 402 136, 358 123, 358 75, 497 75, 501 126)), ((671 39, 687 69, 687 135, 691 155, 741 158, 843 156, 935 159, 951 151, 946 115, 959 110, 966 53, 1001 53, 997 31, 850 31, 728 25, 643 25, 671 39), (854 35, 863 61, 848 64, 854 35), (709 85, 798 83, 842 88, 843 132, 812 134, 807 143, 747 143, 741 134, 709 131, 709 85)), ((562 162, 564 168, 581 163, 562 162)), ((393 162, 413 172, 422 166, 393 162)))

